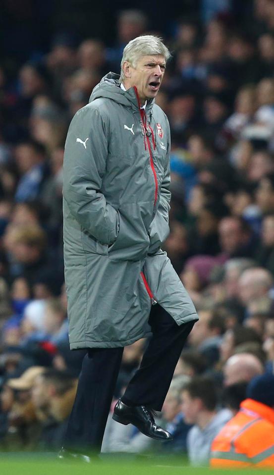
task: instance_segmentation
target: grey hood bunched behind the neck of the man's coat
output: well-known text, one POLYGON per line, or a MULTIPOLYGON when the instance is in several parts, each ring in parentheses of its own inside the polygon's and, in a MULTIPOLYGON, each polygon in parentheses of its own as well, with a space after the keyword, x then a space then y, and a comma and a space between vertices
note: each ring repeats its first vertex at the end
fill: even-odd
MULTIPOLYGON (((119 83, 120 76, 118 74, 109 72, 104 76, 100 83, 95 86, 90 96, 89 103, 99 98, 108 98, 112 101, 122 104, 127 107, 134 107, 139 109, 138 98, 135 93, 134 87, 131 87, 127 91, 123 91, 120 88, 119 83)), ((155 99, 149 99, 147 101, 146 111, 149 111, 153 106, 155 99)))

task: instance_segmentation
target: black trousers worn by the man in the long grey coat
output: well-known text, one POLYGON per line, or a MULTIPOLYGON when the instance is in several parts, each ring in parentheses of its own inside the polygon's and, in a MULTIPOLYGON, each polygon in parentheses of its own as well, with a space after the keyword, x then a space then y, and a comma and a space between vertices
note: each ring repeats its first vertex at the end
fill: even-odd
MULTIPOLYGON (((149 319, 153 335, 122 399, 161 411, 194 321, 178 326, 164 309, 155 307, 149 319)), ((100 452, 122 354, 123 348, 88 350, 64 438, 65 448, 100 452)))

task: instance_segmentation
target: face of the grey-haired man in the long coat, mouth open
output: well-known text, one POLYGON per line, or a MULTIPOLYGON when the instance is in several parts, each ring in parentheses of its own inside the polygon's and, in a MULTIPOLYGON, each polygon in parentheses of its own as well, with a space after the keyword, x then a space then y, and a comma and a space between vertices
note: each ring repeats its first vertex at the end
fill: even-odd
POLYGON ((164 77, 165 59, 162 54, 146 55, 139 58, 135 67, 125 61, 126 89, 136 86, 141 103, 157 96, 164 77))

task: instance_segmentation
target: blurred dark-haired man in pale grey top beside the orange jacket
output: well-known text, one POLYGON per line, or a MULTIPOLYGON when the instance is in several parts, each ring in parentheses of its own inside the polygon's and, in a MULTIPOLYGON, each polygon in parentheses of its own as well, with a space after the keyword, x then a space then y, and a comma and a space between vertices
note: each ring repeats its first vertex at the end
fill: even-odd
POLYGON ((232 413, 217 410, 217 389, 214 381, 195 376, 181 393, 182 412, 188 424, 195 424, 187 434, 187 453, 192 466, 207 465, 213 439, 232 413))

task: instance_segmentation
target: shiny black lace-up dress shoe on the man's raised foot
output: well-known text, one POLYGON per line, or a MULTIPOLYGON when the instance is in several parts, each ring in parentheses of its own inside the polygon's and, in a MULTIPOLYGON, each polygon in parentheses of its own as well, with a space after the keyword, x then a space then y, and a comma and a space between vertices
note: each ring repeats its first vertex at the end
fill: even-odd
POLYGON ((126 406, 119 399, 114 407, 112 419, 124 425, 133 424, 140 432, 153 439, 172 440, 173 438, 167 430, 155 423, 152 411, 146 406, 126 406))

